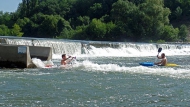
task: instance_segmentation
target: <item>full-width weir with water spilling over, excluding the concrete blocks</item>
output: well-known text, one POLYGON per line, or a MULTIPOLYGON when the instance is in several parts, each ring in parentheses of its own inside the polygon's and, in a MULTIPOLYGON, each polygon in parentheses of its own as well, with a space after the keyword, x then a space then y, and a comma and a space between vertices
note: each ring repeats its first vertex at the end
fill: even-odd
POLYGON ((51 47, 52 55, 58 55, 59 58, 61 58, 61 54, 76 56, 155 56, 160 47, 166 55, 190 54, 190 45, 185 43, 103 42, 2 36, 0 37, 0 44, 51 47))

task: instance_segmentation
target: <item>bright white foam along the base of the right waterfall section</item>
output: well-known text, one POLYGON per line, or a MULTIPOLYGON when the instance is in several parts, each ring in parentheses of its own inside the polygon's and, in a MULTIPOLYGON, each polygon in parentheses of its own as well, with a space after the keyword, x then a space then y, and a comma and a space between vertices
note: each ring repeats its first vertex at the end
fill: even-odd
MULTIPOLYGON (((190 46, 181 49, 162 49, 160 53, 165 53, 167 56, 173 55, 190 55, 190 46)), ((142 57, 142 56, 155 56, 158 54, 158 49, 150 46, 134 48, 134 47, 119 47, 119 48, 96 48, 90 46, 90 49, 86 52, 87 56, 117 56, 117 57, 142 57)))

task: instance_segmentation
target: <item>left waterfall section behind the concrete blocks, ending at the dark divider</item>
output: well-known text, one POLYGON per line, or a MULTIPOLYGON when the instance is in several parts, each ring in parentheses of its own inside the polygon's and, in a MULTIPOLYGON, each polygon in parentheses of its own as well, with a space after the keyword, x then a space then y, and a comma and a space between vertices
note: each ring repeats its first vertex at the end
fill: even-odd
POLYGON ((9 37, 0 38, 0 43, 10 45, 52 47, 53 54, 81 54, 81 43, 71 40, 9 37))

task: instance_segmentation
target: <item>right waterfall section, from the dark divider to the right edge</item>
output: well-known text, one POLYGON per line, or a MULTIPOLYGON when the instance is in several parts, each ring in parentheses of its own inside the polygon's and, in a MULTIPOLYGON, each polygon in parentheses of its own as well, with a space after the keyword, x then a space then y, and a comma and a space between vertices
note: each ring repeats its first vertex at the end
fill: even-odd
POLYGON ((95 56, 156 56, 158 48, 168 55, 190 55, 189 44, 157 44, 133 42, 89 42, 83 47, 83 54, 95 56))

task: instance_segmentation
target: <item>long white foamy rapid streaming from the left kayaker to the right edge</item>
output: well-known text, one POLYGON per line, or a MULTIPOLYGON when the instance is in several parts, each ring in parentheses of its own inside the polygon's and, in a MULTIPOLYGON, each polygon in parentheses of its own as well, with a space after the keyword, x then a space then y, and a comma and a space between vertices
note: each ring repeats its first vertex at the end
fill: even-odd
POLYGON ((190 78, 190 70, 183 67, 144 67, 144 66, 134 66, 126 67, 117 64, 97 64, 89 60, 82 62, 76 62, 73 68, 81 68, 85 71, 90 72, 125 72, 125 73, 138 73, 138 74, 153 74, 161 75, 172 78, 190 78))

